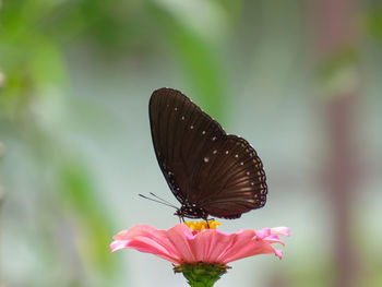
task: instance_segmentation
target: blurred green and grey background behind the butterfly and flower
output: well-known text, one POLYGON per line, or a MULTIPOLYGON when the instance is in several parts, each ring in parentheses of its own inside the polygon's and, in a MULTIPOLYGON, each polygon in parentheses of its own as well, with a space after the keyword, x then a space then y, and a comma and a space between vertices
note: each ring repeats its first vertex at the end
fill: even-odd
POLYGON ((288 226, 285 258, 216 286, 382 286, 380 0, 0 1, 0 286, 187 286, 109 253, 178 205, 147 104, 181 89, 261 156, 264 208, 222 230, 288 226))

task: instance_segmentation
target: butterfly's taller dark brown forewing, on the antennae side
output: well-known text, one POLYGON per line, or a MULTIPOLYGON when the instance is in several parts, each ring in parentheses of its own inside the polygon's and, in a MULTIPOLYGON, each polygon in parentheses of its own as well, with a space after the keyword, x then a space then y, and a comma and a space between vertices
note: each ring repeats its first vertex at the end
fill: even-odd
POLYGON ((224 130, 176 89, 155 91, 148 110, 156 157, 174 195, 180 203, 198 200, 191 188, 200 159, 224 130))

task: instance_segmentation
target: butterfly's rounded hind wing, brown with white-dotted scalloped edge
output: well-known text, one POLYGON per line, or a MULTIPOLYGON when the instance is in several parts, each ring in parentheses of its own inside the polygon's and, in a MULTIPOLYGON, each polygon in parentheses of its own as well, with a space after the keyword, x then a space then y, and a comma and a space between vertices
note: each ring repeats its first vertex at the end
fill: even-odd
POLYGON ((201 168, 202 193, 199 201, 212 216, 238 218, 263 207, 267 187, 263 165, 243 139, 227 135, 206 155, 201 168))

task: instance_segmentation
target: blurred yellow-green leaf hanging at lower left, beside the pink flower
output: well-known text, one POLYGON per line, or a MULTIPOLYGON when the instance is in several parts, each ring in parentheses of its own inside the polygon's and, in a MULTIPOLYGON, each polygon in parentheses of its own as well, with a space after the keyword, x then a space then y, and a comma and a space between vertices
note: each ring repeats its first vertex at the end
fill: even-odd
POLYGON ((109 250, 114 228, 107 207, 79 162, 63 163, 58 175, 61 182, 60 198, 71 213, 76 214, 80 253, 87 265, 93 265, 104 274, 106 280, 106 277, 112 277, 117 265, 109 250))

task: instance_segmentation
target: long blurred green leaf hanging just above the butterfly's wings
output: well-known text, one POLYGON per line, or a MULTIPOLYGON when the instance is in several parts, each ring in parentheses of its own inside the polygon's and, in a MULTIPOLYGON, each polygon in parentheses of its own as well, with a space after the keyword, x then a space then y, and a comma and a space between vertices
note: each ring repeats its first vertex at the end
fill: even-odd
POLYGON ((153 15, 160 31, 168 38, 170 47, 190 79, 191 86, 201 98, 201 106, 219 122, 226 121, 227 81, 224 67, 213 41, 208 41, 193 28, 184 25, 170 11, 153 4, 153 15))

